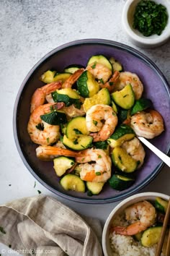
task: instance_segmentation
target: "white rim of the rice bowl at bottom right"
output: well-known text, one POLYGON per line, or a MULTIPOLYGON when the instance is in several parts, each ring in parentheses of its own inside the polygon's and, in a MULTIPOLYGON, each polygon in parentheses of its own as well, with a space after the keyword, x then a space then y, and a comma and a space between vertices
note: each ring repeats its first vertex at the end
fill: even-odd
MULTIPOLYGON (((107 220, 104 223, 104 228, 103 228, 103 231, 102 231, 102 249, 103 249, 103 252, 104 252, 104 256, 109 256, 107 254, 106 241, 107 241, 107 231, 109 229, 109 224, 112 221, 113 216, 115 215, 115 213, 117 213, 117 210, 119 210, 120 208, 123 208, 123 205, 126 205, 128 202, 129 202, 128 205, 130 205, 131 204, 130 202, 133 201, 133 200, 136 200, 135 202, 139 202, 140 199, 143 198, 143 197, 161 197, 164 200, 169 200, 170 199, 169 195, 166 195, 166 194, 161 193, 161 192, 142 192, 142 193, 139 193, 139 194, 136 194, 136 195, 132 195, 132 196, 126 198, 125 200, 122 200, 122 202, 120 202, 118 205, 116 205, 115 208, 113 208, 113 210, 109 213, 109 216, 107 217, 107 220)), ((128 205, 126 207, 128 207, 128 205)))

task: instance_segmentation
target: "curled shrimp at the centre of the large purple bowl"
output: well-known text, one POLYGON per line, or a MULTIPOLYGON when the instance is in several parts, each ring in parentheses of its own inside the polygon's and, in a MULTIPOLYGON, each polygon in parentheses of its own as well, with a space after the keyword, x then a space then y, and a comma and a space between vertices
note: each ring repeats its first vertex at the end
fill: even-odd
POLYGON ((94 142, 107 140, 115 130, 117 115, 111 106, 97 104, 86 112, 86 128, 94 142))

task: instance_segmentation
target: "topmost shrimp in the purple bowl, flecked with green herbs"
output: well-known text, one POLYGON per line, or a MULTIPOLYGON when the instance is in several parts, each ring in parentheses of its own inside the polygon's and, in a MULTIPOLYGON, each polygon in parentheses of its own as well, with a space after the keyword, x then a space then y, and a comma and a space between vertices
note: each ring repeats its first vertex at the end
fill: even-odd
POLYGON ((89 64, 86 67, 86 70, 91 72, 91 74, 93 74, 93 76, 97 78, 97 80, 102 80, 102 82, 104 83, 107 82, 109 80, 109 77, 111 77, 112 75, 112 71, 108 67, 97 61, 89 64))

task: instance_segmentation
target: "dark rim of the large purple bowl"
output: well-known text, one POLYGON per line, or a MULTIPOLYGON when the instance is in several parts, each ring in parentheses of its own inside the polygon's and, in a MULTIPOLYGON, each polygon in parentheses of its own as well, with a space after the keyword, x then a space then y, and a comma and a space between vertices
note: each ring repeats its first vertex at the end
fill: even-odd
MULTIPOLYGON (((109 203, 109 202, 116 202, 118 200, 122 200, 126 197, 128 197, 129 195, 133 195, 135 192, 138 192, 140 189, 142 189, 143 187, 146 187, 146 185, 148 183, 150 183, 157 175, 158 173, 161 171, 161 168, 164 166, 164 162, 161 161, 158 166, 156 166, 156 168, 153 170, 153 173, 151 176, 149 176, 148 178, 146 178, 142 183, 140 183, 138 185, 138 187, 125 192, 122 195, 117 195, 116 197, 109 197, 107 199, 91 199, 91 197, 89 197, 89 199, 86 198, 82 198, 82 197, 74 197, 72 195, 66 195, 62 192, 59 192, 58 190, 54 189, 53 187, 50 187, 49 184, 47 184, 45 181, 43 181, 37 174, 35 174, 35 171, 30 167, 29 163, 27 163, 26 159, 24 158, 24 154, 22 153, 22 148, 19 145, 19 138, 17 135, 17 109, 19 106, 19 100, 20 100, 20 96, 22 95, 22 91, 24 90, 24 85, 27 83, 27 81, 29 80, 30 76, 32 75, 33 72, 35 72, 35 69, 37 69, 37 67, 39 67, 40 64, 42 64, 43 61, 45 61, 45 59, 48 59, 50 56, 52 56, 53 54, 56 54, 58 51, 61 51, 63 48, 70 48, 72 46, 80 46, 80 45, 84 45, 84 44, 100 44, 100 45, 104 45, 104 46, 112 46, 115 48, 120 48, 121 50, 125 50, 128 51, 130 54, 133 54, 134 56, 138 57, 139 59, 142 59, 143 61, 146 62, 146 64, 150 65, 154 71, 156 72, 156 74, 158 74, 158 76, 161 78, 161 80, 163 80, 164 83, 164 87, 167 90, 167 93, 169 95, 170 98, 170 90, 169 90, 169 83, 166 80, 166 77, 164 77, 164 74, 161 72, 160 69, 158 69, 158 67, 156 66, 156 64, 153 63, 153 61, 151 61, 151 59, 149 59, 147 56, 145 56, 144 54, 140 53, 140 51, 136 50, 133 47, 127 46, 123 43, 119 43, 119 42, 115 42, 113 40, 106 40, 106 39, 99 39, 99 38, 88 38, 88 39, 81 39, 81 40, 73 40, 71 42, 65 43, 61 46, 58 46, 56 48, 54 48, 52 51, 48 52, 48 54, 45 54, 45 56, 43 56, 39 61, 37 61, 37 64, 35 64, 32 69, 30 69, 30 72, 28 72, 27 76, 24 78, 22 85, 19 88, 19 91, 17 93, 17 98, 15 100, 14 103, 14 111, 13 111, 13 134, 14 134, 14 141, 15 144, 17 146, 17 150, 19 152, 20 157, 22 158, 22 161, 24 163, 24 165, 27 167, 27 169, 30 171, 30 173, 35 177, 35 179, 37 179, 38 182, 40 182, 40 184, 42 184, 46 189, 50 190, 51 192, 53 192, 55 195, 61 196, 66 200, 72 200, 74 202, 81 202, 81 203, 89 203, 89 204, 104 204, 104 203, 109 203)), ((170 142, 169 142, 169 146, 167 149, 167 154, 170 153, 170 142)))

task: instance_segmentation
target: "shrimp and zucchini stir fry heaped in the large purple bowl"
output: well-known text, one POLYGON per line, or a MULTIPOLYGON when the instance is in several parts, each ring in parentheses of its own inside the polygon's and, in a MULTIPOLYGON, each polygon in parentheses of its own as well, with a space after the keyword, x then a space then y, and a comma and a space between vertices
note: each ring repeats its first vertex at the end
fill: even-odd
POLYGON ((40 80, 45 85, 32 95, 27 124, 37 158, 53 161, 63 189, 97 195, 106 182, 128 189, 146 155, 138 136, 164 131, 138 75, 96 55, 86 67, 48 70, 40 80))

